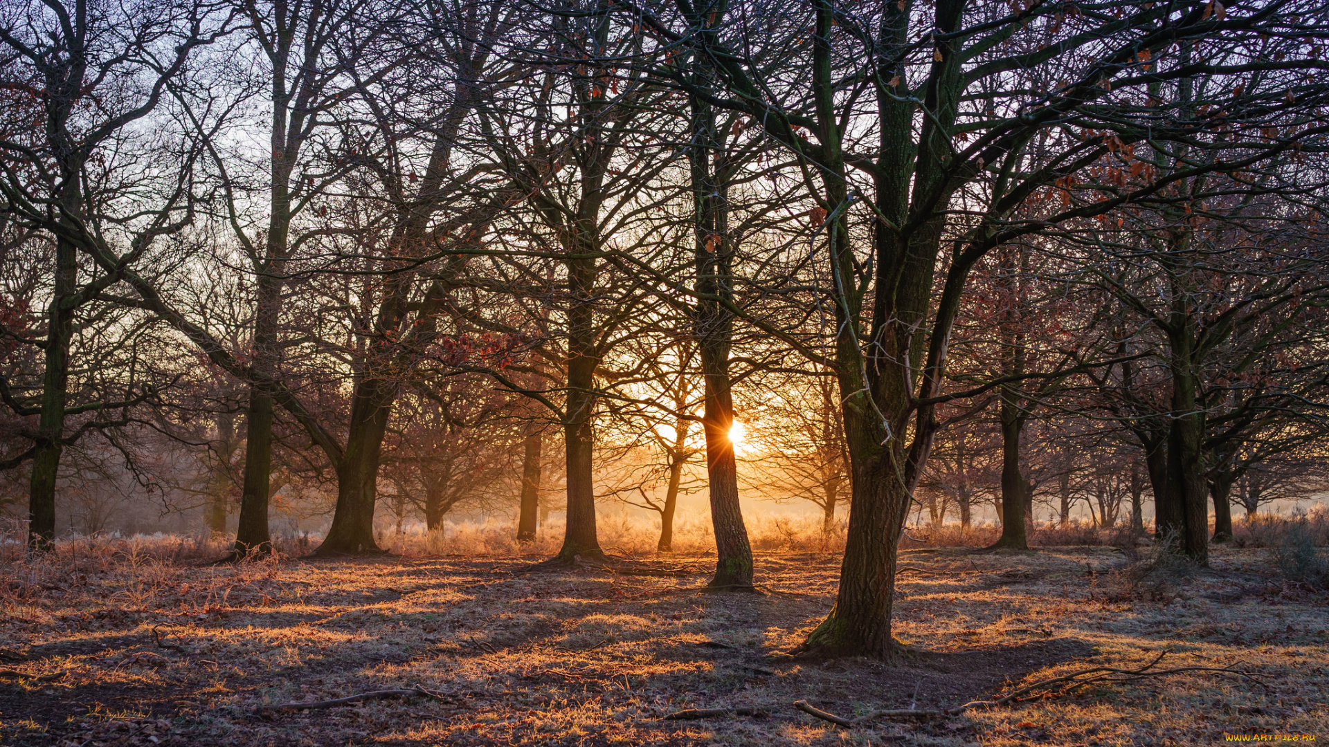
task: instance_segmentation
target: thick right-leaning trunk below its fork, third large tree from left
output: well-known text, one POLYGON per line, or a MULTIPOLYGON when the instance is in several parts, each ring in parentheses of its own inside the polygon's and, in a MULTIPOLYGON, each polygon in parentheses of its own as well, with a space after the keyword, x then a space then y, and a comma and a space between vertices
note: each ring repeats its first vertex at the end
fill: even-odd
POLYGON ((377 379, 361 380, 351 403, 351 429, 338 465, 336 510, 316 556, 379 553, 373 540, 373 504, 379 489, 379 457, 392 413, 396 388, 377 379))

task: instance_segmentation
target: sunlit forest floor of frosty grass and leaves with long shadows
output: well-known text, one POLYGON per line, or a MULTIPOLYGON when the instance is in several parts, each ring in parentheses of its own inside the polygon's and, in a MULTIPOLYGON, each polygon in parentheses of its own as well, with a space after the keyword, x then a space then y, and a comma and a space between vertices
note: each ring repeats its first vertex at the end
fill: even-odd
MULTIPOLYGON (((714 558, 714 556, 712 556, 714 558)), ((714 564, 714 560, 710 560, 714 564)), ((1216 744, 1329 739, 1329 599, 1261 550, 1136 584, 1114 548, 906 552, 894 666, 785 654, 829 610, 839 558, 758 554, 758 594, 708 594, 703 554, 548 570, 536 557, 5 564, 0 743, 1216 744), (658 576, 651 576, 655 573, 658 576), (1091 666, 1235 665, 925 722, 1091 666), (437 696, 272 710, 383 689, 437 696), (664 720, 686 708, 759 715, 664 720)), ((1138 581, 1138 580, 1136 580, 1138 581)))

